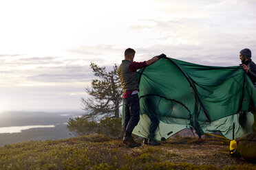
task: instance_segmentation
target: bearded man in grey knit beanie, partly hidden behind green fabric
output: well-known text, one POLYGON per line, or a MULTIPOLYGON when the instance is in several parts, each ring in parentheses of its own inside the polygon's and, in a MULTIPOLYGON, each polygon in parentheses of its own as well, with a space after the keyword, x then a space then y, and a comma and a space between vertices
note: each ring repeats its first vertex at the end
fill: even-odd
MULTIPOLYGON (((250 59, 252 53, 250 49, 242 49, 239 53, 239 58, 242 62, 242 67, 247 73, 250 80, 253 82, 253 85, 256 87, 256 64, 250 59)), ((253 123, 253 132, 256 132, 256 110, 253 103, 250 102, 250 108, 254 114, 254 123, 253 123)))

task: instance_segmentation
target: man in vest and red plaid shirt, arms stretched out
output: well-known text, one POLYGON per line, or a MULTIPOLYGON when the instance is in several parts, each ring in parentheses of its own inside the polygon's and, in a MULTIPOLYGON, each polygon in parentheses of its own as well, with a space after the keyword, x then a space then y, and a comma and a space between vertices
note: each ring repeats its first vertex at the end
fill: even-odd
POLYGON ((131 136, 131 132, 140 120, 140 103, 138 99, 139 84, 136 76, 136 70, 149 66, 159 60, 166 58, 162 53, 145 62, 134 62, 136 51, 128 48, 125 50, 125 60, 118 66, 117 72, 122 84, 122 98, 125 104, 125 120, 124 120, 124 138, 123 143, 129 147, 139 147, 140 143, 136 143, 131 136))

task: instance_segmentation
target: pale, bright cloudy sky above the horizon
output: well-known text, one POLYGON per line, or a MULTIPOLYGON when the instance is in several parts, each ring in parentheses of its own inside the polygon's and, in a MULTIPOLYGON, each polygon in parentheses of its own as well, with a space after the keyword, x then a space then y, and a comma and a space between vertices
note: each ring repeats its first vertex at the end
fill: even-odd
POLYGON ((138 62, 165 53, 236 66, 244 48, 254 60, 255 7, 255 0, 0 1, 0 112, 82 111, 95 78, 89 64, 111 69, 128 47, 138 62))

